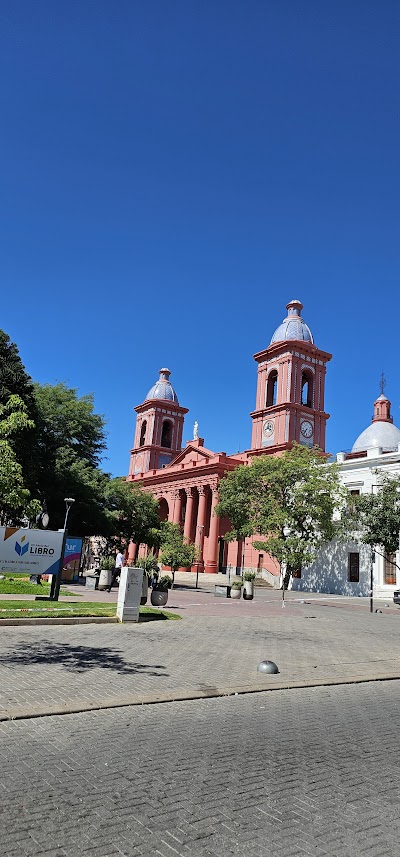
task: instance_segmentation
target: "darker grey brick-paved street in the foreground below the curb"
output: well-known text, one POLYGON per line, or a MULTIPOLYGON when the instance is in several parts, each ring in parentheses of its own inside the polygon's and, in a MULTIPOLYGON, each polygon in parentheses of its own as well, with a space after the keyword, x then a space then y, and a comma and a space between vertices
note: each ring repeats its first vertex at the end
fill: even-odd
POLYGON ((0 724, 7 857, 397 857, 400 682, 0 724))

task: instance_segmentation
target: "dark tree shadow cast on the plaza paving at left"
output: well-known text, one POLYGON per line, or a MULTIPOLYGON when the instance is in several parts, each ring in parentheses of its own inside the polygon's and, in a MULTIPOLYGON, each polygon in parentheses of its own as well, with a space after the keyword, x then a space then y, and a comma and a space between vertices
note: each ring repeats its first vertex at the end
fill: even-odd
POLYGON ((55 664, 70 672, 83 673, 91 669, 113 670, 120 675, 166 677, 163 664, 139 664, 126 661, 118 651, 106 647, 74 646, 67 643, 20 643, 12 652, 2 655, 2 666, 31 666, 55 664))

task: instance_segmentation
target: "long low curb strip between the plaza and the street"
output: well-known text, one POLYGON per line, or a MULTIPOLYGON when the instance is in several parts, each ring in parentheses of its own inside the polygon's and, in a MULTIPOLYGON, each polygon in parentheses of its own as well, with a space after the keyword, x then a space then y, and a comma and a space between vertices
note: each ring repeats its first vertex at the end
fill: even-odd
POLYGON ((313 687, 335 687, 346 684, 366 684, 373 681, 398 681, 400 672, 396 675, 348 676, 347 678, 319 679, 314 681, 276 681, 269 687, 259 684, 239 685, 238 687, 215 687, 212 690, 176 690, 170 693, 145 693, 134 696, 116 697, 115 699, 88 702, 82 700, 64 705, 37 705, 23 708, 0 710, 0 722, 9 720, 27 720, 36 717, 51 717, 62 714, 83 714, 86 711, 102 711, 108 708, 124 708, 134 705, 159 705, 164 702, 185 702, 196 699, 217 699, 219 697, 242 696, 247 693, 268 693, 273 690, 292 690, 313 687))

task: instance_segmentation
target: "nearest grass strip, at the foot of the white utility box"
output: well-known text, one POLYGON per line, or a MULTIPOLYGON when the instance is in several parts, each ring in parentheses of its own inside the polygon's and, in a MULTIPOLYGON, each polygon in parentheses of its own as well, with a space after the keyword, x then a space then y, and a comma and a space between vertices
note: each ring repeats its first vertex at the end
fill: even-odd
MULTIPOLYGON (((115 604, 101 604, 98 601, 69 602, 59 601, 37 606, 34 601, 0 601, 1 619, 36 619, 71 616, 115 616, 115 604)), ((159 610, 156 607, 141 607, 140 622, 152 622, 157 619, 180 619, 176 613, 159 610)))

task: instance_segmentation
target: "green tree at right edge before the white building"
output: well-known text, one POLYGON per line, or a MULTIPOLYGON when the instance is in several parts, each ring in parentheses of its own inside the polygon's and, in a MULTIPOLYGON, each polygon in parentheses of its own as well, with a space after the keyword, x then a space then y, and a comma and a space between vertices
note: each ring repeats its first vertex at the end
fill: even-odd
POLYGON ((389 559, 399 549, 400 476, 375 472, 376 490, 352 497, 349 514, 354 537, 389 559))

